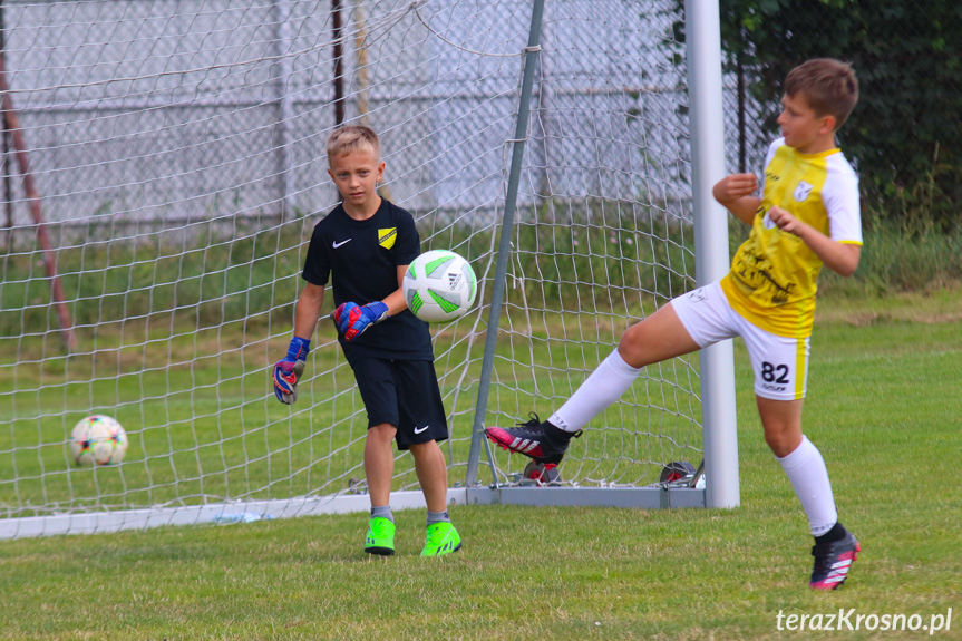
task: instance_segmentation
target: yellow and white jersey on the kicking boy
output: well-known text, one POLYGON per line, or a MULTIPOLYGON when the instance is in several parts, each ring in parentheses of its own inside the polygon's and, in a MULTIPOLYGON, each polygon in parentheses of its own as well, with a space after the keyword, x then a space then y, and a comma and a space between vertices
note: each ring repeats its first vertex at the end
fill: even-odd
POLYGON ((822 259, 768 218, 774 205, 833 241, 862 245, 858 178, 839 149, 800 154, 784 138, 775 140, 751 235, 721 280, 731 307, 749 322, 778 336, 805 338, 815 320, 822 259))

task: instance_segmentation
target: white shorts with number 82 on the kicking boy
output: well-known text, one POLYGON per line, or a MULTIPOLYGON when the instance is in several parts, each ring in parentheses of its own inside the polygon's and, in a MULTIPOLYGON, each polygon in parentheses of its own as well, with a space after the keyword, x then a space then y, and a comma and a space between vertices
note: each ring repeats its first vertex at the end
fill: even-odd
POLYGON ((776 336, 751 324, 731 308, 717 282, 673 299, 671 307, 699 347, 737 336, 745 340, 755 370, 755 394, 774 400, 805 398, 808 338, 776 336))

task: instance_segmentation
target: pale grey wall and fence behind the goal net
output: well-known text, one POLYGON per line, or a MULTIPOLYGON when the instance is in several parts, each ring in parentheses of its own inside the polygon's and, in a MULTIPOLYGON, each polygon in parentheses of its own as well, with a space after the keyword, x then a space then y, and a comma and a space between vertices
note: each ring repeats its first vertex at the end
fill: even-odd
MULTIPOLYGON (((387 187, 408 208, 457 212, 451 216, 490 210, 503 193, 505 164, 493 140, 504 139, 518 84, 511 47, 527 18, 503 4, 486 11, 448 4, 3 3, 9 95, 43 220, 60 223, 55 232, 81 227, 85 236, 106 226, 117 231, 99 237, 116 239, 144 224, 276 221, 325 211, 337 194, 323 145, 339 118, 381 132, 387 187), (399 31, 404 38, 387 37, 399 31), (465 85, 472 95, 458 91, 465 85), (399 96, 409 107, 398 108, 399 96), (453 119, 474 130, 467 144, 440 125, 453 119)), ((611 197, 648 166, 651 175, 632 188, 659 192, 674 203, 665 206, 689 217, 688 167, 676 158, 687 148, 678 108, 686 101, 683 68, 672 61, 677 43, 653 38, 669 33, 676 19, 667 3, 548 3, 528 196, 554 185, 611 197), (618 37, 586 33, 580 16, 601 17, 618 37), (639 19, 645 31, 625 27, 639 19), (596 39, 590 56, 572 46, 585 39, 596 39), (576 117, 576 106, 613 101, 618 108, 597 111, 610 114, 602 122, 576 117), (655 123, 672 123, 677 144, 650 135, 655 123), (618 168, 608 174, 585 171, 612 153, 610 132, 622 129, 638 140, 635 153, 619 152, 611 158, 618 168)), ((728 80, 729 130, 738 132, 739 109, 750 120, 756 107, 735 76, 728 80)), ((732 166, 758 165, 756 132, 749 127, 729 145, 732 166)), ((2 150, 3 220, 30 231, 35 221, 9 136, 2 150)))

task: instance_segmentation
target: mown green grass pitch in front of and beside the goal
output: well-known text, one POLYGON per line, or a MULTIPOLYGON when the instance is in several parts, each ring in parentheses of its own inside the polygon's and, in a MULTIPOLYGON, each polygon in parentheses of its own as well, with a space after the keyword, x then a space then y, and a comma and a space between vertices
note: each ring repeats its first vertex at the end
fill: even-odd
MULTIPOLYGON (((767 450, 736 343, 742 504, 731 511, 456 507, 465 548, 369 559, 361 514, 0 544, 2 639, 914 639, 778 629, 778 614, 953 610, 962 639, 962 297, 835 301, 805 423, 843 522, 848 583, 807 586, 807 523, 767 450)), ((871 622, 866 620, 866 622, 871 622)), ((823 619, 827 624, 827 619, 823 619)))

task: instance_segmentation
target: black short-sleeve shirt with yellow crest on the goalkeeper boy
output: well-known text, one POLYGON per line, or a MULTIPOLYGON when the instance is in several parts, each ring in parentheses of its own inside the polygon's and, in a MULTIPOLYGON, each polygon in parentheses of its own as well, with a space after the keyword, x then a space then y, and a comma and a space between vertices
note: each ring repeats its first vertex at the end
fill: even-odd
MULTIPOLYGON (((334 307, 382 301, 398 289, 398 266, 420 254, 414 216, 387 200, 366 221, 338 205, 314 225, 302 278, 315 285, 332 279, 334 307)), ((428 324, 410 310, 390 317, 348 342, 339 337, 348 361, 360 357, 434 360, 428 324)))

